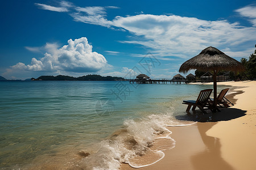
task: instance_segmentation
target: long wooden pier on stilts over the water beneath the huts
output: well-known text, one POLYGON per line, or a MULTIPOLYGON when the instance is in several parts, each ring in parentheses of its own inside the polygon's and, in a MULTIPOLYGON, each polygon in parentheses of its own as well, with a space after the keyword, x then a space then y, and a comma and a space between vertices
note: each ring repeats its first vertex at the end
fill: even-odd
POLYGON ((174 80, 174 79, 134 79, 130 80, 130 84, 187 84, 188 80, 174 80))

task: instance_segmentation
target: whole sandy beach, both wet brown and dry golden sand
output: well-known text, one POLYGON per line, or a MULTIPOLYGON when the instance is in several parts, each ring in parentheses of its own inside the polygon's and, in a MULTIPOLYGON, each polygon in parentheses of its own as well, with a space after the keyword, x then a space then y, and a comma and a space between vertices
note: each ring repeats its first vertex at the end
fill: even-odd
MULTIPOLYGON (((234 106, 214 114, 214 122, 168 127, 175 148, 164 151, 159 162, 140 169, 255 169, 256 82, 217 84, 234 87, 228 95, 234 106)), ((134 168, 122 164, 121 169, 134 168)))

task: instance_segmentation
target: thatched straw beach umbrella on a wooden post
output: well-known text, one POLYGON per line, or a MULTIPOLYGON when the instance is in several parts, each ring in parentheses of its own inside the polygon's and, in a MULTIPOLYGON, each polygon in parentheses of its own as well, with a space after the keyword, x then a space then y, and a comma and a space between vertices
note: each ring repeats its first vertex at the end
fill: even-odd
POLYGON ((245 68, 243 65, 212 46, 205 48, 197 56, 188 59, 181 66, 179 72, 187 73, 191 69, 197 69, 200 71, 212 71, 213 72, 213 96, 214 107, 217 106, 217 81, 216 76, 218 71, 243 71, 245 68))

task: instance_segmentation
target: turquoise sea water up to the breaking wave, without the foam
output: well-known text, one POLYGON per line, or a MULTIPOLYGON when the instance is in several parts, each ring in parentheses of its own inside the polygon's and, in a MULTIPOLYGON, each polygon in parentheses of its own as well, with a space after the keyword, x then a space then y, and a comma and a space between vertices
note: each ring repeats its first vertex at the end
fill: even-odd
MULTIPOLYGON (((83 168, 86 163, 81 162, 86 160, 77 157, 77 153, 96 153, 96 143, 102 146, 102 141, 116 131, 129 131, 135 127, 133 122, 155 122, 162 118, 165 124, 173 124, 175 116, 185 114, 186 106, 181 102, 196 99, 199 91, 206 88, 212 86, 0 82, 0 168, 44 169, 47 167, 42 164, 46 162, 51 168, 53 160, 55 168, 67 162, 71 167, 83 168)), ((218 91, 222 88, 218 87, 218 91)), ((138 131, 133 130, 138 137, 145 128, 139 125, 135 128, 138 131)), ((97 165, 94 162, 92 166, 97 165)))

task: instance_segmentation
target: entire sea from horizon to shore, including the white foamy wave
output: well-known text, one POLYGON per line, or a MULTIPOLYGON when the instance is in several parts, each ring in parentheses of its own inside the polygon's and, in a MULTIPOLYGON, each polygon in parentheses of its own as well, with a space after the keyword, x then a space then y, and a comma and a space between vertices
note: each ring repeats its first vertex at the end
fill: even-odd
MULTIPOLYGON (((176 145, 167 126, 196 123, 186 118, 187 105, 182 101, 196 100, 207 88, 213 87, 2 81, 0 169, 118 169, 121 163, 135 168, 153 164, 164 157, 163 150, 176 145), (143 160, 146 155, 154 159, 143 160)), ((218 91, 223 88, 218 86, 218 91)))

